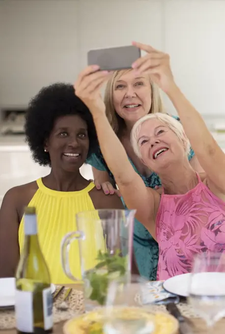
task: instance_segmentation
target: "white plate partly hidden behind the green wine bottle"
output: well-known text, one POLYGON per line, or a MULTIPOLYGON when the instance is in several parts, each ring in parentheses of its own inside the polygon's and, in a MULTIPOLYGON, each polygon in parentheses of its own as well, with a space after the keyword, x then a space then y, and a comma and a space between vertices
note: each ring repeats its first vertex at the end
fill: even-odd
MULTIPOLYGON (((56 286, 51 284, 52 293, 56 286)), ((0 307, 15 305, 15 278, 0 278, 0 307)))

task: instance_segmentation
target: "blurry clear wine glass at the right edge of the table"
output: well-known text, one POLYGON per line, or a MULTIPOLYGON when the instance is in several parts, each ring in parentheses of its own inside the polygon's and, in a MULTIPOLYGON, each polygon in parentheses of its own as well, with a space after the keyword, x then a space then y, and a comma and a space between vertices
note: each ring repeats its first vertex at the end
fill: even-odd
POLYGON ((208 330, 225 316, 225 254, 207 252, 194 259, 189 302, 208 330))

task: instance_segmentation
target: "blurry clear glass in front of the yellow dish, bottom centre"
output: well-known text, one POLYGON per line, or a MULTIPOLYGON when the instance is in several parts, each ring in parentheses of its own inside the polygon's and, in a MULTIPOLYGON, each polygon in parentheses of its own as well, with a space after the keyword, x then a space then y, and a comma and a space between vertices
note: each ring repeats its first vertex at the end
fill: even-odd
POLYGON ((105 334, 151 334, 154 321, 150 310, 141 307, 148 292, 147 280, 132 275, 114 279, 108 286, 105 311, 105 334))

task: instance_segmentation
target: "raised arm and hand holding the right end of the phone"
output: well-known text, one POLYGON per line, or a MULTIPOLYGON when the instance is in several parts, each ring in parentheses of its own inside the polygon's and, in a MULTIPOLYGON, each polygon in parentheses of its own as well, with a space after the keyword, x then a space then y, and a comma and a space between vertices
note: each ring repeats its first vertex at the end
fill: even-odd
POLYGON ((152 80, 168 95, 191 142, 197 159, 207 175, 209 188, 225 195, 225 154, 213 138, 201 115, 186 99, 173 80, 169 56, 150 46, 133 43, 147 55, 139 58, 133 68, 139 73, 148 72, 152 80))

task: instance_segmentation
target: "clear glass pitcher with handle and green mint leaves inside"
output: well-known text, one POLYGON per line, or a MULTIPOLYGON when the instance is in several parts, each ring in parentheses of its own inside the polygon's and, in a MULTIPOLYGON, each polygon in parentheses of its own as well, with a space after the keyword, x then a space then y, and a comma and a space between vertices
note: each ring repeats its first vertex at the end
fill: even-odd
POLYGON ((79 242, 81 277, 84 281, 84 306, 89 311, 105 304, 108 283, 131 275, 133 228, 136 210, 94 210, 76 215, 77 231, 67 233, 61 243, 64 273, 71 273, 70 244, 79 242), (75 241, 76 242, 76 241, 75 241))

